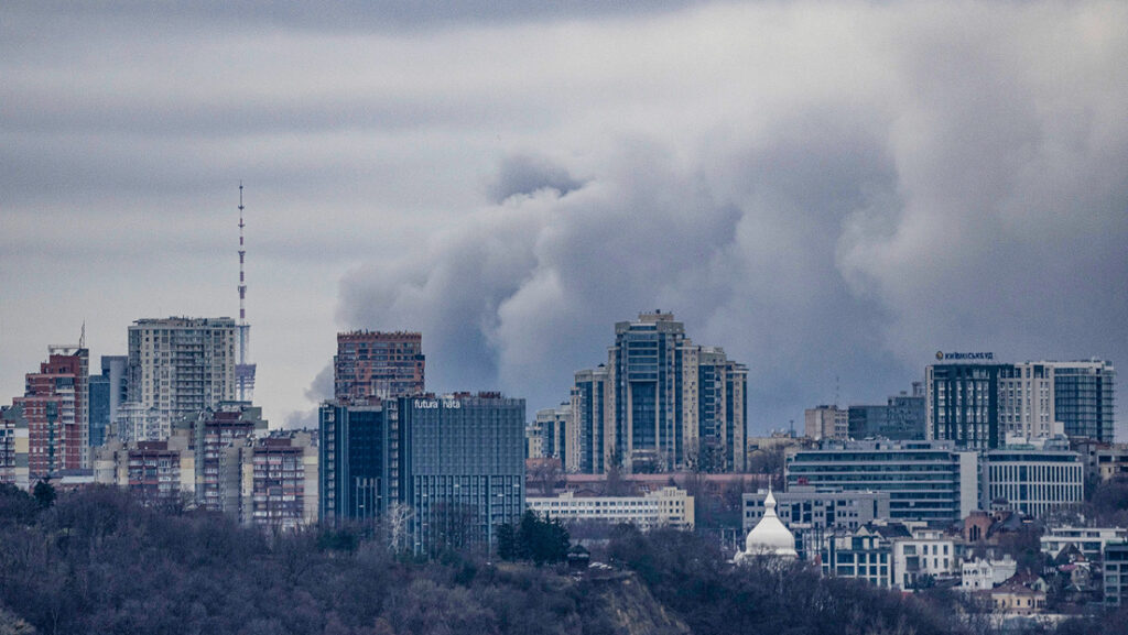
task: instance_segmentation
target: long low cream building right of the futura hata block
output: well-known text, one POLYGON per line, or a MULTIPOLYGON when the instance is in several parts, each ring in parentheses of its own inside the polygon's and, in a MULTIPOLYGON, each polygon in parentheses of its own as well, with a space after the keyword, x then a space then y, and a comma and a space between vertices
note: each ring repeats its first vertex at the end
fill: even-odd
POLYGON ((530 510, 564 521, 629 522, 642 530, 694 527, 694 497, 677 487, 643 496, 575 496, 564 492, 553 497, 527 496, 525 501, 530 510))

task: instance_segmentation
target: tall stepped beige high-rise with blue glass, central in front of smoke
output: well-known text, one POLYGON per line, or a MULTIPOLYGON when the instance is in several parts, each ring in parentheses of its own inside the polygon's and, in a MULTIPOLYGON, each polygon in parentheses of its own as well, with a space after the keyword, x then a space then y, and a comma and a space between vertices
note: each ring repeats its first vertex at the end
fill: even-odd
POLYGON ((572 389, 580 470, 744 469, 748 370, 686 337, 672 314, 615 325, 608 361, 572 389))

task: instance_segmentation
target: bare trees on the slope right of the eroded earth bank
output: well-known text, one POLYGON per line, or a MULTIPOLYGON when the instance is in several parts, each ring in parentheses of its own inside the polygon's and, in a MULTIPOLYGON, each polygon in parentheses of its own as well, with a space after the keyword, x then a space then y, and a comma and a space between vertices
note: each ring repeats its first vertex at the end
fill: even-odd
POLYGON ((1001 628, 979 612, 973 597, 946 589, 902 594, 776 559, 734 567, 715 545, 693 533, 660 529, 643 535, 626 526, 616 533, 608 556, 636 572, 695 635, 1128 634, 1128 608, 1056 627, 1031 620, 1001 628))

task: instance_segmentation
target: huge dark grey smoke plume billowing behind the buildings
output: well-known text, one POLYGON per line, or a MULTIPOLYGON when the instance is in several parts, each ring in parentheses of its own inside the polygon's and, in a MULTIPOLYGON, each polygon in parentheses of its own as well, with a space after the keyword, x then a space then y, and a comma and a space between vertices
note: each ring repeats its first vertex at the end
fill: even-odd
MULTIPOLYGON (((505 200, 353 272, 342 318, 421 325, 434 388, 499 386, 541 407, 606 360, 614 321, 672 310, 750 365, 757 430, 908 389, 937 349, 1123 359, 1128 302, 1110 284, 1128 277, 1123 90, 1065 98, 1059 80, 1122 77, 1125 38, 1054 65, 1037 16, 982 17, 973 33, 945 15, 879 37, 891 74, 849 103, 814 91, 755 132, 606 141, 554 168, 591 175, 566 196, 505 200)), ((505 166, 497 179, 521 180, 505 166)))

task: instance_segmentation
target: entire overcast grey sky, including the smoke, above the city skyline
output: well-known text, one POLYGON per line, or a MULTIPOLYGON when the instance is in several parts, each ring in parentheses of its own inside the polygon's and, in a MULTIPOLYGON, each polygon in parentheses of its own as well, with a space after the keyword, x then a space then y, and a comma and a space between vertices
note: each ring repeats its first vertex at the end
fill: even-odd
POLYGON ((754 433, 937 350, 1128 360, 1125 2, 276 5, 0 7, 0 400, 83 320, 97 368, 237 316, 240 179, 275 426, 346 328, 531 418, 661 308, 754 433))

